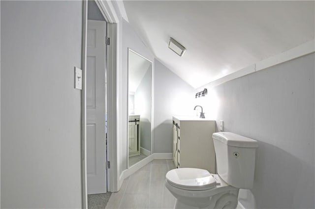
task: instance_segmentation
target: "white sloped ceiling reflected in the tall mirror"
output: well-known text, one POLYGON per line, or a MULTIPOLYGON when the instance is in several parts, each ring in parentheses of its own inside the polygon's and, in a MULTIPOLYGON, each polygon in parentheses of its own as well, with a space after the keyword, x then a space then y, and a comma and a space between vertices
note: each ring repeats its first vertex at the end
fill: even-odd
MULTIPOLYGON (((138 54, 129 51, 128 52, 128 89, 129 92, 135 92, 141 83, 142 78, 149 70, 151 62, 138 54)), ((150 67, 151 69, 151 67, 150 67)))

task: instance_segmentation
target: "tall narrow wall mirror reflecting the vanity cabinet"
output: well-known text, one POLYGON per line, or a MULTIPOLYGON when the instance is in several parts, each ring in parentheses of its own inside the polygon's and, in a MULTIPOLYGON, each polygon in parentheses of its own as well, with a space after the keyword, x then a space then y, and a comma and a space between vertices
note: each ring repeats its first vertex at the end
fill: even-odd
POLYGON ((128 167, 151 155, 152 62, 128 49, 128 167))

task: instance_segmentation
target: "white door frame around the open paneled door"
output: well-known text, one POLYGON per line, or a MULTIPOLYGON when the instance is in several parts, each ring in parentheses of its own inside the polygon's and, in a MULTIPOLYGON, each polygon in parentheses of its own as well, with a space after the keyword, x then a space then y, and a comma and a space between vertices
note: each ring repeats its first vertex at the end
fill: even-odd
MULTIPOLYGON (((119 19, 110 1, 95 0, 99 10, 107 23, 107 37, 110 38, 110 45, 107 46, 106 69, 107 71, 107 161, 111 162, 110 169, 107 169, 108 191, 118 191, 119 188, 119 166, 117 140, 117 70, 119 67, 119 19)), ((83 0, 83 28, 82 28, 82 95, 81 95, 81 188, 82 208, 88 208, 87 190, 87 117, 86 117, 86 69, 87 69, 87 23, 88 23, 88 2, 83 0)), ((105 38, 105 37, 104 37, 105 38)), ((105 165, 104 165, 105 166, 105 165)))

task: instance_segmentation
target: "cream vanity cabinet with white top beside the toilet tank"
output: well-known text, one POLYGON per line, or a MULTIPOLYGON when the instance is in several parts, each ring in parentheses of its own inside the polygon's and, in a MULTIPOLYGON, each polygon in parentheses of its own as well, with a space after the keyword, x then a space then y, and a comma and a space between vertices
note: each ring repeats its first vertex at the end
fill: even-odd
POLYGON ((202 168, 216 172, 212 134, 216 121, 194 117, 173 117, 173 160, 176 168, 202 168))

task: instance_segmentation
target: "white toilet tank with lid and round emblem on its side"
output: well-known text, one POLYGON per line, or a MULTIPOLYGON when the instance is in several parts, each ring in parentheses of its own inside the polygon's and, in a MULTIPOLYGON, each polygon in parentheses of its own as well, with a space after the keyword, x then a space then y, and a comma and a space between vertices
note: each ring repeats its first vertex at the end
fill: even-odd
POLYGON ((234 187, 252 188, 257 141, 231 132, 213 133, 212 137, 219 176, 234 187))

